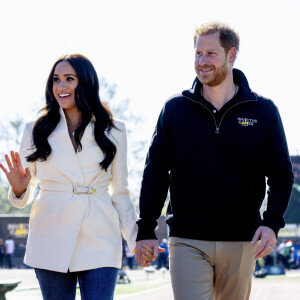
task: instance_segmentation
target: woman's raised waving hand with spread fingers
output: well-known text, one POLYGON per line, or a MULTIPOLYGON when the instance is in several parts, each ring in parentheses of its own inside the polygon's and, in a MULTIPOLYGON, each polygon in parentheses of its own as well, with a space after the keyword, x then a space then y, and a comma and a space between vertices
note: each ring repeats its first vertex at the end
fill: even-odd
POLYGON ((8 170, 1 163, 0 168, 5 173, 15 195, 19 198, 27 189, 31 175, 28 167, 23 168, 18 152, 10 151, 10 156, 11 160, 5 154, 8 170))

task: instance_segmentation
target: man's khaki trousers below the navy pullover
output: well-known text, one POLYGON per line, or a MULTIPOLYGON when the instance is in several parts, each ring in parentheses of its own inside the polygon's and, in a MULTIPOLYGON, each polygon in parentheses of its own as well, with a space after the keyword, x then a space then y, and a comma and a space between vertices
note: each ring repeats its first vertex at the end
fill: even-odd
POLYGON ((175 300, 248 300, 258 244, 170 237, 175 300))

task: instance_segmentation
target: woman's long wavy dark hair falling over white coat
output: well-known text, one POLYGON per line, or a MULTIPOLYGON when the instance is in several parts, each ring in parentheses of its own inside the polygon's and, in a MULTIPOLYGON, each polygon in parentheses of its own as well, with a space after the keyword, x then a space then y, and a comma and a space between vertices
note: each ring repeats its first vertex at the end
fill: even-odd
POLYGON ((82 121, 74 134, 77 147, 80 150, 82 149, 79 140, 80 133, 84 131, 93 117, 95 119, 95 139, 105 154, 103 161, 100 162, 100 166, 107 171, 115 157, 117 148, 106 136, 105 131, 109 132, 112 127, 116 127, 113 123, 111 111, 100 100, 97 73, 90 60, 81 54, 67 54, 54 63, 46 86, 46 105, 41 109, 41 112, 44 113, 36 120, 33 127, 33 144, 36 151, 27 156, 26 159, 29 162, 45 161, 51 153, 48 137, 60 120, 59 104, 52 91, 53 74, 57 64, 62 61, 67 61, 71 64, 78 78, 78 85, 75 90, 75 103, 81 112, 82 121))

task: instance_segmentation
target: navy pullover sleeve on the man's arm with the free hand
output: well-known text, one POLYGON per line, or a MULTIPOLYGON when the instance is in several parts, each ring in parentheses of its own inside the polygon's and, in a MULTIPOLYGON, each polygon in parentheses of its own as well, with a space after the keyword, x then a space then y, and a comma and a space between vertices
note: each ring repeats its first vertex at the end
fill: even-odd
POLYGON ((272 228, 277 236, 285 221, 283 215, 290 199, 294 176, 282 121, 275 107, 275 116, 267 139, 265 153, 269 186, 267 210, 262 225, 272 228))

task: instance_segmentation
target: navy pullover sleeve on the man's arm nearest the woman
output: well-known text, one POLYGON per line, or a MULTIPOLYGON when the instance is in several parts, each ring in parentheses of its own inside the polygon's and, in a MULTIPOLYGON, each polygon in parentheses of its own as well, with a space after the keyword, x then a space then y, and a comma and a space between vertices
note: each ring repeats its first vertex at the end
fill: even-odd
POLYGON ((167 114, 167 104, 162 109, 155 127, 146 157, 140 192, 140 218, 137 241, 157 239, 155 227, 170 185, 172 161, 171 119, 167 114))

